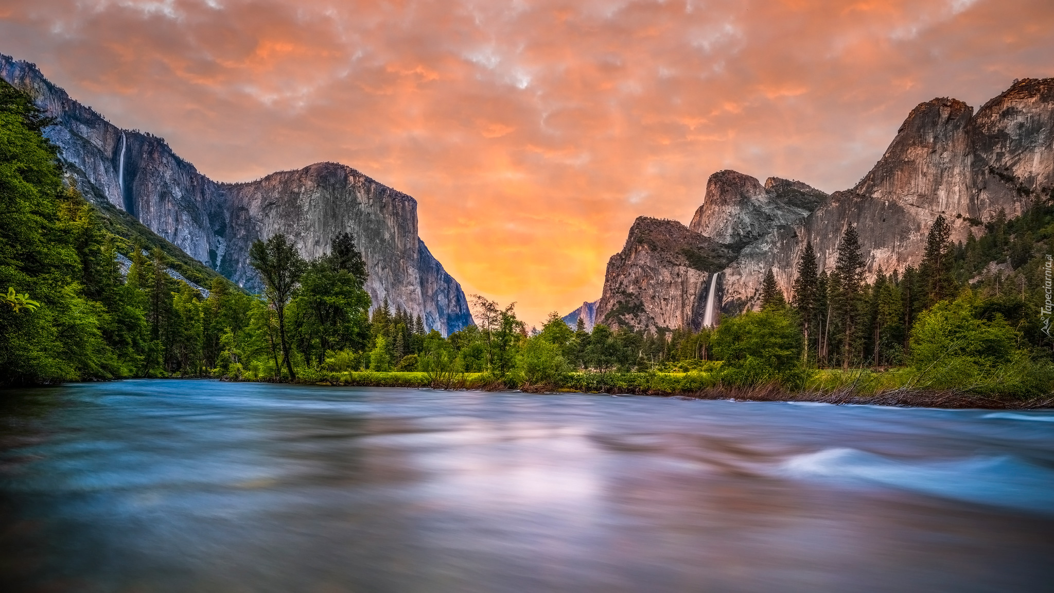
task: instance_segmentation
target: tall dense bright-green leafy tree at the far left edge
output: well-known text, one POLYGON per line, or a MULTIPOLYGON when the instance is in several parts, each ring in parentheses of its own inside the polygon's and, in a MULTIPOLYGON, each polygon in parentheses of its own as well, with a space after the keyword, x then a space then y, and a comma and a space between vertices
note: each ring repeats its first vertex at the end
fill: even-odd
POLYGON ((105 309, 84 291, 83 266, 63 208, 77 198, 62 185, 56 149, 41 135, 47 118, 0 81, 0 286, 32 294, 30 314, 0 307, 0 383, 109 378, 105 309))

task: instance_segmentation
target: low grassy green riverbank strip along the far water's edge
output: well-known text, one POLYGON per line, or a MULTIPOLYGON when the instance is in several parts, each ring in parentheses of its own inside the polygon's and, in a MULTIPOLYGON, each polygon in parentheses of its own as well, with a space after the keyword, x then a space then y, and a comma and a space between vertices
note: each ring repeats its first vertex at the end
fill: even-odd
MULTIPOLYGON (((903 369, 901 369, 903 370, 903 369)), ((1054 408, 1054 395, 1033 398, 977 394, 955 389, 918 387, 902 372, 870 369, 818 371, 805 387, 787 389, 777 384, 736 386, 722 384, 706 372, 571 372, 560 382, 530 384, 500 379, 487 372, 446 376, 427 372, 305 374, 298 383, 358 387, 432 387, 487 391, 584 393, 676 397, 696 400, 787 401, 827 404, 884 405, 980 409, 1054 408)))

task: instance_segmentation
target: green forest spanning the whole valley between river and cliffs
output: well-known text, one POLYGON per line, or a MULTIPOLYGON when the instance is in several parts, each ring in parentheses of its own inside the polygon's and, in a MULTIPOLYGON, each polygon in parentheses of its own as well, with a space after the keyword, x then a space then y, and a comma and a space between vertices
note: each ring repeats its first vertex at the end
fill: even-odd
POLYGON ((426 332, 419 315, 371 303, 366 264, 347 233, 312 261, 281 234, 254 244, 262 294, 219 275, 199 274, 208 286, 192 286, 171 273, 180 265, 171 249, 121 232, 128 227, 66 180, 42 134, 48 122, 0 81, 2 384, 214 377, 686 393, 853 381, 857 389, 1017 399, 1054 387, 1040 315, 1054 252, 1050 191, 1022 194, 1020 216, 968 219, 977 233, 964 242, 953 243, 938 217, 917 269, 879 270, 871 283, 850 226, 833 269, 819 269, 809 244, 790 294, 769 270, 760 310, 713 328, 587 331, 555 312, 528 328, 514 304, 473 295, 475 325, 443 337, 426 332))

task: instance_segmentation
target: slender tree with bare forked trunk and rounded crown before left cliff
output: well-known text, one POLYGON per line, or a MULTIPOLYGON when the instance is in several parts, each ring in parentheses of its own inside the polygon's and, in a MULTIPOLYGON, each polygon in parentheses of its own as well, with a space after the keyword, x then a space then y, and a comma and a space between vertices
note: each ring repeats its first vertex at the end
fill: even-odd
POLYGON ((286 333, 286 307, 293 298, 306 264, 296 246, 285 234, 273 235, 267 243, 256 240, 249 250, 249 261, 264 281, 264 294, 278 320, 278 343, 290 379, 296 379, 286 333))

